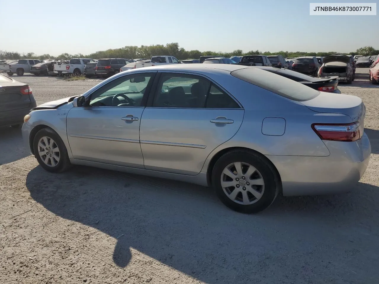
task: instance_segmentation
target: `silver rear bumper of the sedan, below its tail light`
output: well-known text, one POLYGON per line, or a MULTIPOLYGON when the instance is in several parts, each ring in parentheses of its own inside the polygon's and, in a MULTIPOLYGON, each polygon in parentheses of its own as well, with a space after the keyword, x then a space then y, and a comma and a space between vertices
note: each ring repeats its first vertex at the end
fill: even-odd
POLYGON ((355 142, 324 141, 329 156, 267 156, 282 180, 284 196, 321 195, 354 189, 370 160, 371 145, 364 133, 355 142))

